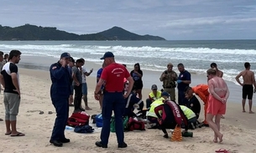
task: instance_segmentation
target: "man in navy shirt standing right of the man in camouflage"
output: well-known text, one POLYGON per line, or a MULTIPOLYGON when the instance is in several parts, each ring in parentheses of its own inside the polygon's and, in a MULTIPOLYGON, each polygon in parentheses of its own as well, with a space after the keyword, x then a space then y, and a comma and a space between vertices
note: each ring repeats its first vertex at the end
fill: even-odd
POLYGON ((178 69, 180 71, 177 83, 178 83, 178 103, 179 105, 185 104, 185 88, 191 84, 191 74, 184 69, 183 64, 178 64, 178 69))

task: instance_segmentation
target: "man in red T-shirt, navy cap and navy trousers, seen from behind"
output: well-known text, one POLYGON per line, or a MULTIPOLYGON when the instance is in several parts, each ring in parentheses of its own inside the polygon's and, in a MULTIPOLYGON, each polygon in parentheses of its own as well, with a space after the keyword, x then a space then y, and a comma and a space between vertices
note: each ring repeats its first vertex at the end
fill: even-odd
POLYGON ((106 67, 102 71, 101 79, 96 85, 94 91, 95 99, 99 99, 99 91, 102 84, 105 83, 104 96, 102 102, 102 119, 103 127, 101 133, 101 141, 97 141, 95 145, 102 148, 107 148, 108 138, 110 134, 110 120, 112 110, 115 114, 116 121, 116 135, 118 137, 118 148, 126 148, 127 144, 124 142, 123 134, 123 112, 125 109, 124 99, 128 98, 133 88, 133 78, 130 76, 128 70, 122 65, 117 64, 112 52, 106 52, 101 58, 104 59, 106 67), (123 94, 123 79, 129 81, 128 91, 123 94))

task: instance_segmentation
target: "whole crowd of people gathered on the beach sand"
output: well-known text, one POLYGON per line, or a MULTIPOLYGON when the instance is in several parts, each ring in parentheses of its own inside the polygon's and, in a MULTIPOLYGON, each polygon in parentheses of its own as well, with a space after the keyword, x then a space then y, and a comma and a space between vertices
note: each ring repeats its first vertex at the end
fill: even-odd
MULTIPOLYGON (((18 64, 21 52, 12 50, 8 55, 0 52, 1 75, 0 81, 4 88, 4 105, 6 110, 5 123, 6 134, 11 136, 24 136, 16 128, 16 116, 20 103, 20 87, 18 80, 18 64), (9 55, 9 56, 8 56, 9 55), (3 68, 2 68, 3 67, 3 68)), ((146 117, 155 127, 163 130, 164 137, 169 135, 166 129, 174 129, 176 126, 195 129, 196 126, 210 126, 214 131, 214 142, 222 142, 220 132, 220 120, 226 113, 226 104, 229 97, 227 84, 222 79, 223 72, 217 68, 217 64, 210 64, 206 71, 207 84, 198 84, 191 87, 191 74, 185 70, 184 64, 178 64, 180 74, 173 70, 173 64, 167 64, 167 69, 160 74, 159 80, 163 82, 163 88, 158 89, 153 84, 146 99, 146 108, 142 97, 143 71, 139 64, 134 64, 134 69, 128 72, 126 65, 117 64, 112 52, 107 52, 102 57, 102 68, 97 71, 97 85, 94 97, 99 101, 102 110, 101 140, 96 142, 98 147, 107 148, 110 134, 110 122, 112 111, 115 115, 115 129, 118 137, 118 148, 128 145, 124 142, 123 115, 136 116, 133 112, 134 105, 138 110, 146 110, 146 117), (178 95, 175 95, 175 89, 178 95), (204 120, 199 123, 201 104, 196 95, 204 103, 204 120), (176 97, 178 100, 176 102, 176 97), (213 121, 214 119, 214 121, 213 121)), ((245 112, 245 99, 249 101, 249 113, 252 111, 253 86, 256 84, 254 73, 250 70, 250 64, 244 64, 243 70, 236 77, 238 84, 243 86, 243 112, 245 112), (239 78, 243 77, 243 83, 239 78)), ((68 53, 60 55, 60 60, 50 66, 50 98, 56 110, 55 125, 50 137, 50 143, 62 146, 70 142, 65 137, 65 125, 69 115, 69 106, 74 106, 74 112, 91 110, 87 100, 86 77, 92 73, 85 68, 85 59, 76 59, 68 53), (74 97, 75 91, 75 98, 74 97), (82 108, 81 101, 85 108, 82 108)))

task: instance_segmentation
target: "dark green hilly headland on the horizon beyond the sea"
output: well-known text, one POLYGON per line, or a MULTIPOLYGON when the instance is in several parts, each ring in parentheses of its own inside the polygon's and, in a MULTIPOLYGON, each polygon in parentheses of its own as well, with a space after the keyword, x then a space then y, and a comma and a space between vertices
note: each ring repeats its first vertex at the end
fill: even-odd
POLYGON ((165 40, 159 36, 138 35, 123 28, 113 27, 100 33, 67 33, 54 27, 30 24, 11 28, 0 25, 0 40, 165 40))

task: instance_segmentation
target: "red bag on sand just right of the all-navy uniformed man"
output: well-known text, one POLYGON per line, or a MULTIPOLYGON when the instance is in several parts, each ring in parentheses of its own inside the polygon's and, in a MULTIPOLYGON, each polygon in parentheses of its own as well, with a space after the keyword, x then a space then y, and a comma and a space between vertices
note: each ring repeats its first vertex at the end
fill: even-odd
POLYGON ((67 125, 76 127, 76 125, 88 125, 90 115, 86 114, 85 111, 76 112, 71 115, 67 120, 67 125))

